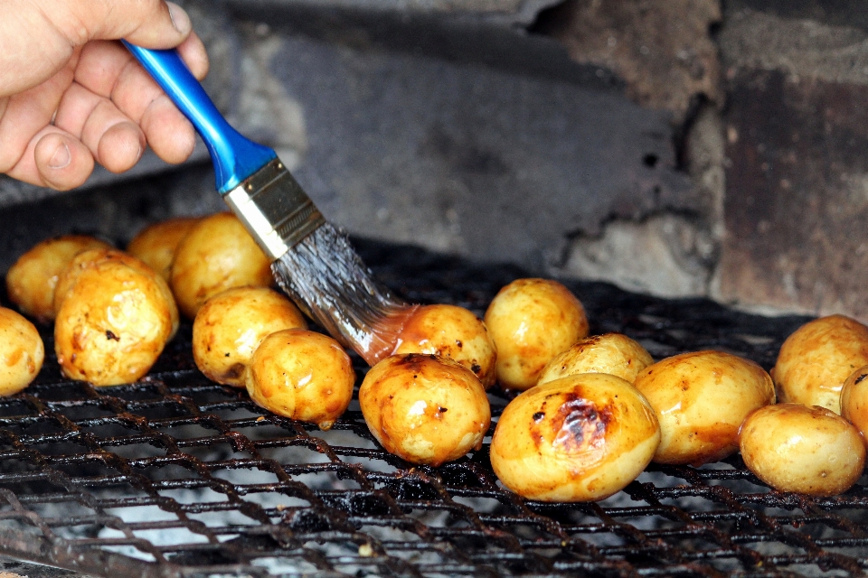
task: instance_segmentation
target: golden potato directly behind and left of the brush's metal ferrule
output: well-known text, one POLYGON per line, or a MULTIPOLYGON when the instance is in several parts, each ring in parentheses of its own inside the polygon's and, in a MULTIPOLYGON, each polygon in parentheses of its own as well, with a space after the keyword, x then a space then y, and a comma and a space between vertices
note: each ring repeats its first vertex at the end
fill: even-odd
POLYGON ((181 239, 169 279, 178 308, 190 319, 226 289, 273 283, 269 257, 231 213, 202 219, 181 239))

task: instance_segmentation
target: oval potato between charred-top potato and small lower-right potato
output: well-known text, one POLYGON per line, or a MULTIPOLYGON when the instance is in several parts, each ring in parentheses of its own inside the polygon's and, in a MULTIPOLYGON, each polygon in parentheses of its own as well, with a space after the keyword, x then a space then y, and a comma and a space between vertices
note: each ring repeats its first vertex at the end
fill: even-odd
POLYGON ((775 388, 763 368, 722 351, 663 359, 639 373, 633 385, 660 422, 657 463, 721 460, 739 447, 744 418, 775 403, 775 388))

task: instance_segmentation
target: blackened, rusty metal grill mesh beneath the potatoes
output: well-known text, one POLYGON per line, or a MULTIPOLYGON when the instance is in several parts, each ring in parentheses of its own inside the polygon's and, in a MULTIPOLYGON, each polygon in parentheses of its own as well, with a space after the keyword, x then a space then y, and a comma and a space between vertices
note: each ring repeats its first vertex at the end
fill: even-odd
MULTIPOLYGON (((396 294, 477 313, 524 275, 359 247, 396 294)), ((806 321, 606 284, 571 289, 593 331, 623 331, 658 359, 715 348, 769 368, 806 321)), ((439 469, 412 468, 373 442, 355 402, 329 432, 269 415, 203 378, 189 332, 136 385, 65 381, 48 359, 32 387, 0 399, 0 552, 113 577, 839 576, 868 567, 864 479, 844 496, 812 499, 769 490, 734 457, 652 466, 599 503, 528 501, 498 485, 487 445, 439 469)), ((490 397, 499 415, 507 399, 490 397)))

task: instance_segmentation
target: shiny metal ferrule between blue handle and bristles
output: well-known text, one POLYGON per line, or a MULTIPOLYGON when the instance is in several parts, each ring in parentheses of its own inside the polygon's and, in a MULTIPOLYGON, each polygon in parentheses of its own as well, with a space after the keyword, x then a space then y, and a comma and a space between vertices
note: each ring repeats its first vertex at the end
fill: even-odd
POLYGON ((223 195, 223 200, 271 260, 325 223, 305 191, 275 159, 223 195))

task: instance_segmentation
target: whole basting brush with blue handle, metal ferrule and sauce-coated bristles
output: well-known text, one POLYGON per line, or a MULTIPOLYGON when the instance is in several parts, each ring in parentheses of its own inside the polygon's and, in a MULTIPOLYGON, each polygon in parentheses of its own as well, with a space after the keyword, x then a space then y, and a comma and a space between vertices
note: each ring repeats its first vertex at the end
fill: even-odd
POLYGON ((392 353, 415 307, 373 280, 278 155, 230 126, 177 51, 124 44, 202 136, 217 191, 271 258, 278 285, 369 364, 392 353))

